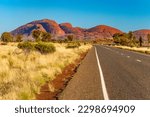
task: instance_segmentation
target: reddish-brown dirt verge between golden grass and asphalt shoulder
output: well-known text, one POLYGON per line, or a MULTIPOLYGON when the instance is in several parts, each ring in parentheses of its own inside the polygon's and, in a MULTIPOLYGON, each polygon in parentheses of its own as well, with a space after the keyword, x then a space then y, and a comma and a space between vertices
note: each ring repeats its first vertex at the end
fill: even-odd
POLYGON ((67 86, 68 82, 72 79, 73 75, 77 72, 81 61, 86 56, 87 52, 80 55, 80 58, 75 60, 73 64, 70 64, 64 68, 61 74, 56 78, 47 82, 41 87, 40 94, 36 95, 37 100, 58 100, 59 95, 67 86))

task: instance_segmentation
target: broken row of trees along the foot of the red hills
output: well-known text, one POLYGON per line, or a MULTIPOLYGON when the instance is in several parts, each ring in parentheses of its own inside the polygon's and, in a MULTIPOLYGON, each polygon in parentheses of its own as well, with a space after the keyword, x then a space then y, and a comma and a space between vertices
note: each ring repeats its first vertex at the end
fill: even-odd
MULTIPOLYGON (((33 37, 34 41, 39 42, 50 42, 53 41, 52 40, 52 35, 48 32, 43 32, 40 30, 33 30, 31 33, 31 36, 33 37)), ((18 35, 12 35, 9 32, 4 32, 1 35, 1 41, 3 42, 22 42, 23 41, 24 36, 21 34, 18 35)), ((63 41, 63 42, 72 42, 73 40, 75 40, 74 35, 68 35, 64 40, 58 40, 59 41, 63 41)), ((113 35, 113 41, 115 44, 117 45, 124 45, 124 46, 130 46, 130 47, 141 47, 143 44, 143 38, 140 36, 139 39, 137 39, 133 32, 129 32, 129 33, 123 33, 123 34, 119 34, 116 33, 113 35)), ((150 46, 150 34, 147 35, 147 42, 150 46)))

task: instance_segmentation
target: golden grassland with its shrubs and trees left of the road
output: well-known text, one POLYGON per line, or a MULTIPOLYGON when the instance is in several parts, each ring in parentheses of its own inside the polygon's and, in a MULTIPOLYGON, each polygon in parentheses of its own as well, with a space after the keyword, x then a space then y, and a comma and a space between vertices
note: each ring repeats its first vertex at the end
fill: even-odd
POLYGON ((9 32, 1 36, 0 99, 35 99, 42 85, 91 48, 72 35, 52 40, 50 33, 34 30, 31 36, 32 40, 9 32))

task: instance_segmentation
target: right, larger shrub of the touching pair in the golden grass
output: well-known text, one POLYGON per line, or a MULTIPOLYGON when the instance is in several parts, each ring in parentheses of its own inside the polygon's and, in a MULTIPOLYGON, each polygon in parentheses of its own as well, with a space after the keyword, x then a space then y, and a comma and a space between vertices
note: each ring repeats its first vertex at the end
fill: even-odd
POLYGON ((35 49, 41 53, 53 53, 56 51, 55 46, 52 43, 39 42, 35 45, 35 49))

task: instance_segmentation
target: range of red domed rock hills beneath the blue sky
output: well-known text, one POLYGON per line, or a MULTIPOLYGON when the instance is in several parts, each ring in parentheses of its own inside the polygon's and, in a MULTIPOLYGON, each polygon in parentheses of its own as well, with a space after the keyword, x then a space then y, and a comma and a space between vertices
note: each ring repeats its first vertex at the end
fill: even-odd
MULTIPOLYGON (((89 29, 81 27, 73 27, 70 23, 58 24, 54 20, 43 19, 36 20, 27 23, 13 31, 13 35, 22 34, 30 36, 33 30, 41 30, 43 32, 49 32, 53 37, 65 37, 72 34, 77 39, 112 39, 115 33, 123 33, 121 30, 106 25, 98 25, 89 29)), ((150 34, 150 30, 137 30, 133 31, 134 35, 138 39, 140 36, 146 40, 147 34, 150 34)))

